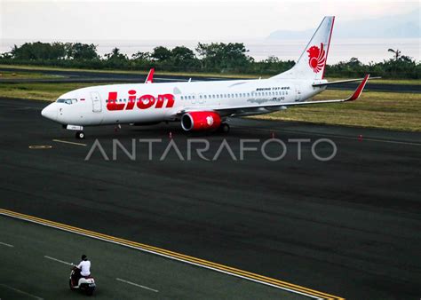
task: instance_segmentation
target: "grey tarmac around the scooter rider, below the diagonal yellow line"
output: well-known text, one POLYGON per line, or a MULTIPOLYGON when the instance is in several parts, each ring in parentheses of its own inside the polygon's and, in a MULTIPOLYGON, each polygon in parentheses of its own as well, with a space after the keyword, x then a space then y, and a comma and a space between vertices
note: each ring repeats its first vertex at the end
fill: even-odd
POLYGON ((220 272, 179 263, 105 241, 0 217, 1 299, 77 299, 71 263, 88 252, 100 299, 308 299, 220 272), (4 243, 5 242, 5 243, 4 243))

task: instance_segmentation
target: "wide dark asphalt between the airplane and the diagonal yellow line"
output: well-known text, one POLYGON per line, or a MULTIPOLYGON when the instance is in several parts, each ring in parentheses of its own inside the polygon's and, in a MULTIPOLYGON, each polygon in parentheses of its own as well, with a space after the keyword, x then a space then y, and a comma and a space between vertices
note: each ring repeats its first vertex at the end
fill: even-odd
POLYGON ((45 105, 0 99, 0 208, 349 299, 421 295, 420 133, 233 119, 228 135, 160 124, 88 128, 81 141, 44 120, 45 105), (281 160, 259 150, 240 159, 242 139, 260 149, 273 137, 287 146, 281 160), (109 160, 97 149, 85 161, 97 138, 109 160), (114 160, 113 138, 127 149, 134 138, 136 159, 114 160), (162 139, 152 160, 147 138, 162 139), (209 142, 209 161, 187 160, 188 138, 209 142), (310 140, 300 160, 291 138, 310 140), (329 162, 312 154, 319 138, 338 148, 329 162), (171 140, 184 160, 174 151, 161 160, 171 140), (212 161, 224 140, 235 159, 223 151, 212 161))

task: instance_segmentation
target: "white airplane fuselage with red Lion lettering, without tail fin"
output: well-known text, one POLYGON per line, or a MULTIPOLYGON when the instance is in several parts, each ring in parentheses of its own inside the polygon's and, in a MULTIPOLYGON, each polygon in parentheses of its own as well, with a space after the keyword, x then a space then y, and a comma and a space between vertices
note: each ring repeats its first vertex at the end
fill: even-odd
POLYGON ((305 101, 324 91, 324 87, 313 87, 313 83, 265 79, 99 85, 61 95, 44 108, 43 115, 61 124, 95 126, 175 121, 183 111, 195 110, 240 109, 222 117, 266 114, 282 107, 282 103, 305 101))

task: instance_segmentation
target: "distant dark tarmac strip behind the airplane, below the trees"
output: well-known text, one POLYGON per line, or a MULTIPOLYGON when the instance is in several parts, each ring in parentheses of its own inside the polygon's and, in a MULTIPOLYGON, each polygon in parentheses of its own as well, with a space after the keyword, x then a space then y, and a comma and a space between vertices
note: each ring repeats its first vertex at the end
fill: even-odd
MULTIPOLYGON (((49 79, 2 79, 0 83, 144 83, 147 74, 139 71, 138 74, 124 74, 124 73, 107 73, 107 72, 90 72, 90 71, 56 71, 56 70, 22 70, 20 68, 1 68, 1 71, 10 72, 35 72, 44 75, 57 75, 58 78, 49 79)), ((249 78, 249 79, 257 79, 249 78)), ((183 76, 183 75, 159 75, 154 76, 155 83, 169 83, 180 81, 211 81, 211 80, 238 80, 238 78, 231 77, 209 77, 209 76, 183 76)), ((358 83, 340 83, 332 84, 328 88, 330 90, 354 90, 358 83)), ((376 83, 375 80, 370 81, 365 88, 365 91, 390 91, 390 92, 421 92, 421 85, 417 84, 383 84, 376 83)))

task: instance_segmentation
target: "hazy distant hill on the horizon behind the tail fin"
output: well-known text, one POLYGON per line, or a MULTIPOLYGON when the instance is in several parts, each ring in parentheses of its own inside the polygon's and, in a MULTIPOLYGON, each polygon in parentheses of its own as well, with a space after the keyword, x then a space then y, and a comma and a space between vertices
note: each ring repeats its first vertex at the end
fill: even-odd
MULTIPOLYGON (((335 22, 335 38, 399 38, 421 37, 420 13, 417 9, 407 14, 381 17, 371 20, 335 22)), ((307 39, 314 33, 314 28, 293 31, 277 30, 267 36, 271 40, 307 39)))

